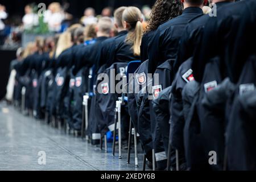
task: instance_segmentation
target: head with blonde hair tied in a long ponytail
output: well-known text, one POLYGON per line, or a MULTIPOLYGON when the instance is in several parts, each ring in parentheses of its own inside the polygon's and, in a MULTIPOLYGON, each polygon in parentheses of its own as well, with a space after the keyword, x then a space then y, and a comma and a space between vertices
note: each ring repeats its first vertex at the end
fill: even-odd
POLYGON ((135 56, 141 55, 141 40, 143 35, 142 13, 138 7, 130 6, 123 11, 123 24, 129 31, 126 42, 133 45, 135 56))

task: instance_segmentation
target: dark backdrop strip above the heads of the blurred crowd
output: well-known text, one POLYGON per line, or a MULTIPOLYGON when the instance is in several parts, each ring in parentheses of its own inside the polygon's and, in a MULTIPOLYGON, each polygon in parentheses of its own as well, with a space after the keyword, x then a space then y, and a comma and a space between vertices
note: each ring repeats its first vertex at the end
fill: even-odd
POLYGON ((24 6, 28 3, 46 3, 49 5, 51 2, 69 3, 68 12, 73 14, 76 18, 80 18, 84 13, 86 7, 93 7, 96 9, 96 13, 100 14, 101 10, 106 6, 112 6, 114 8, 119 6, 138 6, 143 5, 152 6, 155 0, 1 0, 0 3, 6 6, 6 9, 11 18, 18 18, 24 14, 24 6))

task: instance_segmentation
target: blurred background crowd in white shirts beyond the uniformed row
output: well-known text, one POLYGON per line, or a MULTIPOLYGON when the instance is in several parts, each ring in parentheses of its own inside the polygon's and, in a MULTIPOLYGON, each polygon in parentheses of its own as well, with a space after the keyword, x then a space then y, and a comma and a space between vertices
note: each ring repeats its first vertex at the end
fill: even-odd
MULTIPOLYGON (((83 26, 97 23, 102 16, 108 16, 113 19, 113 8, 105 7, 100 15, 96 14, 93 7, 87 7, 84 15, 76 19, 72 14, 67 13, 69 5, 63 5, 59 2, 50 3, 46 11, 41 11, 36 3, 28 4, 24 7, 24 16, 22 24, 16 27, 5 25, 4 21, 8 18, 5 6, 0 5, 0 45, 19 46, 22 42, 22 34, 47 34, 61 33, 67 30, 73 23, 81 23, 83 26), (39 11, 40 10, 40 11, 39 11), (42 16, 41 16, 42 13, 42 16)), ((149 6, 142 7, 143 19, 148 20, 151 9, 149 6)), ((24 46, 24 45, 23 45, 24 46)))

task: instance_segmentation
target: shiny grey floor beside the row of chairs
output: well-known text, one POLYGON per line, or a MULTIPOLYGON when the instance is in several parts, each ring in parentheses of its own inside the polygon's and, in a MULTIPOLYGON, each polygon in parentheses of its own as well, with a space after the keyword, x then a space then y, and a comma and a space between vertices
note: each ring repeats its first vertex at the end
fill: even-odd
POLYGON ((100 148, 91 146, 80 138, 66 135, 43 121, 23 116, 13 106, 0 103, 0 170, 2 171, 142 169, 142 154, 139 154, 139 168, 135 168, 134 154, 131 155, 131 164, 126 164, 126 151, 123 151, 123 159, 118 159, 118 156, 112 156, 111 146, 108 150, 109 153, 105 154, 100 148), (40 165, 43 156, 39 154, 46 154, 45 165, 40 165))

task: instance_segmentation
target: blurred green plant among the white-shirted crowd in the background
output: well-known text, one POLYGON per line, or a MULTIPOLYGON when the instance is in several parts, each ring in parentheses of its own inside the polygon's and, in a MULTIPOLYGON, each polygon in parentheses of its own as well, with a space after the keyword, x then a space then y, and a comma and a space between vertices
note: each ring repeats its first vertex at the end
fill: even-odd
MULTIPOLYGON (((35 15, 38 14, 38 6, 35 3, 31 4, 31 7, 33 9, 33 13, 35 15)), ((38 17, 38 24, 33 26, 30 29, 24 30, 24 33, 26 34, 48 34, 49 33, 49 28, 48 24, 44 22, 44 16, 39 16, 38 17)))

